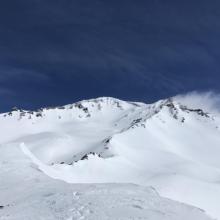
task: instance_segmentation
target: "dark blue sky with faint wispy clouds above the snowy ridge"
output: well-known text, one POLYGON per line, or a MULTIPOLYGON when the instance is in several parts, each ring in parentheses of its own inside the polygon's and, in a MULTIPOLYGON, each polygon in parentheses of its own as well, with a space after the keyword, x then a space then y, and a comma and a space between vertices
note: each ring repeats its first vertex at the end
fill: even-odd
POLYGON ((219 0, 0 2, 0 111, 219 91, 219 0))

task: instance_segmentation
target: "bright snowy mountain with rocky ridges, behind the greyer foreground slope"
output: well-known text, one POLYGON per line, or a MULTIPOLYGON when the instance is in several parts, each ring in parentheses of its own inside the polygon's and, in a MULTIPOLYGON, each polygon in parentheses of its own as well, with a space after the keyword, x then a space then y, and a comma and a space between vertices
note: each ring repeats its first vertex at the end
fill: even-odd
POLYGON ((114 98, 0 115, 1 144, 69 183, 137 183, 220 219, 220 118, 175 99, 114 98))

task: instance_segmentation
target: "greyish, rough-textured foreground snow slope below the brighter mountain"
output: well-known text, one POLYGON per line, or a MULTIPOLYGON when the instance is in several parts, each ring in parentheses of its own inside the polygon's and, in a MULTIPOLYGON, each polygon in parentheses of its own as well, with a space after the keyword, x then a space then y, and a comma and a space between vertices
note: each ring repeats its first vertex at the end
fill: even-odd
POLYGON ((0 220, 211 219, 197 208, 160 197, 151 187, 54 180, 17 142, 1 145, 0 152, 0 220))

